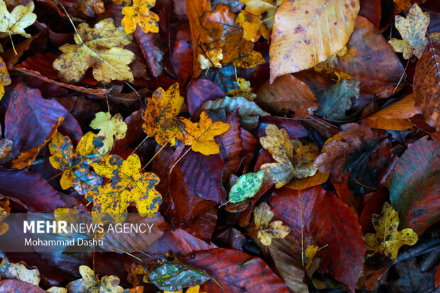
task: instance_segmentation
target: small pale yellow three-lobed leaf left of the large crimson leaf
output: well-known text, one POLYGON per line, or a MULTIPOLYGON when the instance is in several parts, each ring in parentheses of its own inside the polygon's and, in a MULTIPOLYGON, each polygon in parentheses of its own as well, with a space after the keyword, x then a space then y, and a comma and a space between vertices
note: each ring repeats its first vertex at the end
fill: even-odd
POLYGON ((255 207, 253 210, 253 221, 255 229, 258 231, 258 240, 261 244, 269 246, 272 239, 283 239, 290 233, 290 227, 282 224, 282 221, 273 221, 273 211, 270 211, 270 206, 265 202, 255 207))

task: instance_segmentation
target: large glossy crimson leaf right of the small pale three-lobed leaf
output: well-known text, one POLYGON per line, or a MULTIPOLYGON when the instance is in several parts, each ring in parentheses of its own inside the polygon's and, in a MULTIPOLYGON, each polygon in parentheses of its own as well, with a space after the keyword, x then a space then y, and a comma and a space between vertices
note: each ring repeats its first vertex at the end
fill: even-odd
POLYGON ((290 226, 297 239, 302 239, 303 223, 304 247, 329 245, 321 250, 319 272, 329 272, 354 292, 361 277, 365 248, 361 225, 351 209, 319 186, 300 192, 277 189, 270 198, 270 207, 275 219, 290 226))

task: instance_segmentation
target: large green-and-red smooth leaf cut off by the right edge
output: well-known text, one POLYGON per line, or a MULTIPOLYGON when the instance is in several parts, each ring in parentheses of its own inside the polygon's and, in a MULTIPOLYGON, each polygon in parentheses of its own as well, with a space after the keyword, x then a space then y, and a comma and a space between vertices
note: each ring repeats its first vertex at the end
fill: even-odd
POLYGON ((419 235, 440 220, 440 136, 431 137, 409 146, 394 165, 387 185, 400 226, 419 235))

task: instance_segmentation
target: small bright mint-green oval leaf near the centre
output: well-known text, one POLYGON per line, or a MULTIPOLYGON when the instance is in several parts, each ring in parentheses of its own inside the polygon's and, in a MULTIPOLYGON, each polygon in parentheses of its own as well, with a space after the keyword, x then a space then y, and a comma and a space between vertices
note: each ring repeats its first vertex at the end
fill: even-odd
POLYGON ((241 175, 229 192, 229 202, 240 202, 253 197, 263 185, 265 170, 241 175))

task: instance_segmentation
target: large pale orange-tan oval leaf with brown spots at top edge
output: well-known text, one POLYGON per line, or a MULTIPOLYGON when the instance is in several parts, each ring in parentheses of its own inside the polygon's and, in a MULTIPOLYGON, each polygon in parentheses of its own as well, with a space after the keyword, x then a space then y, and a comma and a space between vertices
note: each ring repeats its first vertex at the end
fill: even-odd
POLYGON ((341 50, 353 33, 359 8, 358 0, 283 1, 270 43, 270 82, 314 67, 341 50))

